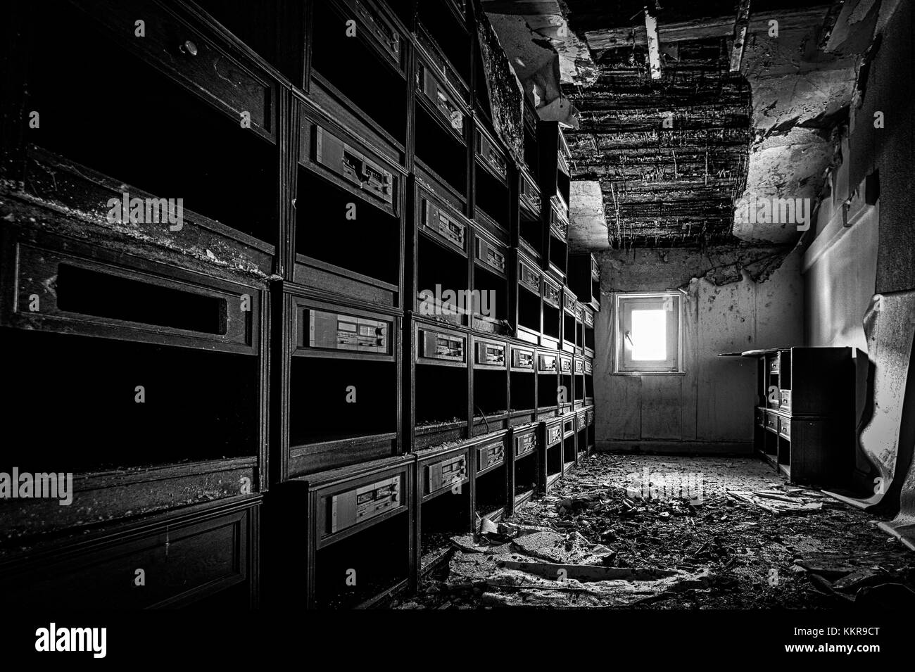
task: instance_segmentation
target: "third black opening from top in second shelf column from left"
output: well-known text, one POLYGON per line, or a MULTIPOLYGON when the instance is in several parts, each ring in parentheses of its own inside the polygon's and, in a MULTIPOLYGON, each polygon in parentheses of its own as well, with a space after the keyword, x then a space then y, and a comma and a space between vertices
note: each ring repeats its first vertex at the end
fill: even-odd
POLYGON ((291 445, 330 444, 328 449, 343 451, 349 450, 348 440, 360 437, 382 436, 393 441, 397 432, 395 362, 293 357, 291 366, 291 445))

